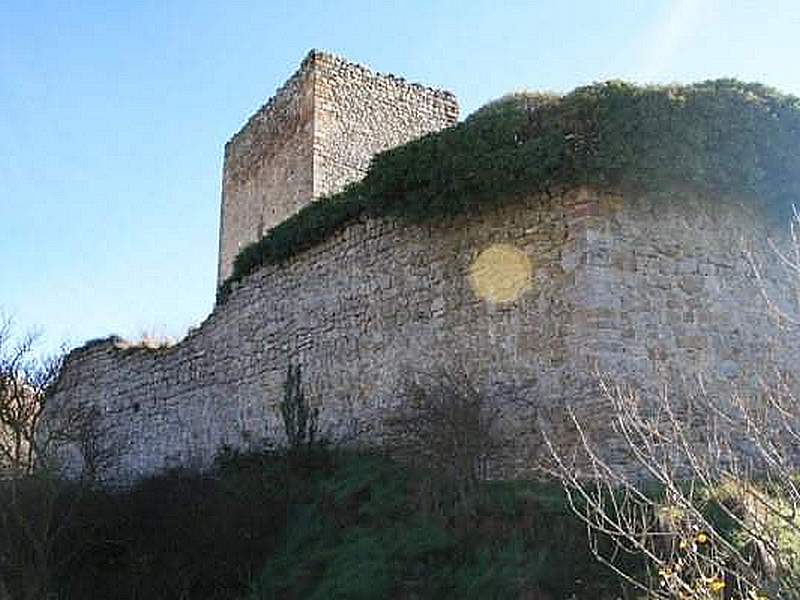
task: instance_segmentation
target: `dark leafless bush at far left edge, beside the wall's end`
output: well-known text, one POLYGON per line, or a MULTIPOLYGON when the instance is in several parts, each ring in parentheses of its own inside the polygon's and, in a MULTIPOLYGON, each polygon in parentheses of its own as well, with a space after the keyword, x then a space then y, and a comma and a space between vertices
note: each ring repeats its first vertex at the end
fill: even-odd
POLYGON ((40 357, 36 336, 17 336, 0 318, 0 600, 48 597, 59 536, 72 509, 111 460, 99 410, 50 407, 63 353, 40 357), (57 408, 57 410, 56 410, 57 408), (80 454, 78 480, 65 484, 55 461, 63 445, 80 454), (67 499, 70 500, 67 500, 67 499))

